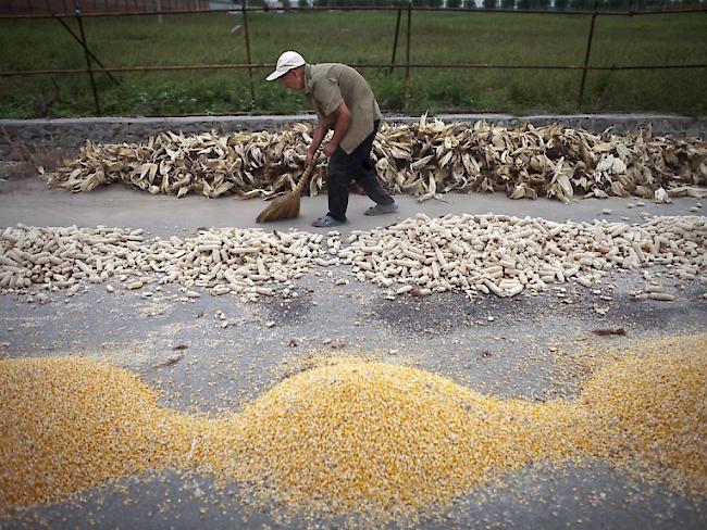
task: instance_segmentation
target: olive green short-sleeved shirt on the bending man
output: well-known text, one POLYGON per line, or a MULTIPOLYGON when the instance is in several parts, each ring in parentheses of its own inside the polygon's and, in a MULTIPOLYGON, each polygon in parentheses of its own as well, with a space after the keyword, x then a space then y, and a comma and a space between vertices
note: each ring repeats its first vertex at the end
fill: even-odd
POLYGON ((308 64, 305 67, 305 93, 320 124, 330 129, 336 123, 334 112, 346 103, 351 117, 339 146, 347 154, 373 132, 373 123, 383 117, 367 80, 346 64, 308 64))

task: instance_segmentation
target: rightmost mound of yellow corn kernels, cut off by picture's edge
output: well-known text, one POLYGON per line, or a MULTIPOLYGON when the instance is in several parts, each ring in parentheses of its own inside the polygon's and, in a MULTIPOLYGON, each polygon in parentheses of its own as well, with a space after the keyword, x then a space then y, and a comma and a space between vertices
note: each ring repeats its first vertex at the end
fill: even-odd
POLYGON ((610 364, 582 387, 575 408, 587 447, 615 463, 634 455, 673 485, 707 493, 707 335, 641 348, 645 355, 610 364))

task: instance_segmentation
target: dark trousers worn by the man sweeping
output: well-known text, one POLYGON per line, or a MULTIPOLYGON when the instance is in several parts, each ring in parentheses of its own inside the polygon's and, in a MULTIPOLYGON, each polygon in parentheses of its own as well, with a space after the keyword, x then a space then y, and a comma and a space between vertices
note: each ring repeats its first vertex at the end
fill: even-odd
POLYGON ((376 121, 371 132, 351 154, 340 148, 328 160, 327 187, 328 187, 328 215, 338 220, 346 220, 348 207, 348 192, 351 180, 356 180, 365 194, 376 204, 393 204, 395 201, 381 185, 375 166, 371 163, 371 149, 373 139, 381 125, 376 121))

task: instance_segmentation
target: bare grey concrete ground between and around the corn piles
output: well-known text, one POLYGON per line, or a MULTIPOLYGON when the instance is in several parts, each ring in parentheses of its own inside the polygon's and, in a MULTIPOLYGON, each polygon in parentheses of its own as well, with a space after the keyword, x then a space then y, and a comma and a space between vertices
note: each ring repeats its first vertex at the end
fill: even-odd
MULTIPOLYGON (((346 234, 424 212, 509 214, 553 220, 606 218, 642 222, 652 215, 695 215, 693 199, 657 205, 637 199, 511 201, 504 195, 448 194, 448 202, 418 203, 398 197, 397 215, 365 217, 370 201, 352 195, 346 234), (605 210, 610 213, 603 213, 605 210)), ((148 236, 194 234, 199 227, 255 227, 266 203, 223 198, 150 195, 114 185, 89 193, 46 189, 37 177, 0 180, 0 227, 23 223, 58 226, 144 228, 148 236)), ((265 229, 317 230, 311 219, 326 211, 326 197, 305 198, 298 219, 265 229)), ((703 212, 702 210, 700 212, 703 212)), ((325 231, 325 230, 324 230, 325 231)), ((375 286, 352 280, 336 286, 346 269, 310 273, 297 281, 294 300, 243 304, 237 298, 181 301, 178 286, 150 299, 139 292, 109 294, 101 286, 74 296, 51 293, 51 302, 27 303, 0 295, 0 356, 88 355, 137 373, 162 390, 166 405, 185 412, 240 407, 309 359, 340 353, 371 354, 449 377, 480 392, 544 401, 572 398, 585 374, 575 363, 582 349, 621 346, 672 332, 704 331, 707 301, 703 278, 673 285, 673 302, 637 301, 629 291, 644 285, 640 273, 613 273, 592 292, 567 283, 558 296, 468 300, 445 293, 424 299, 385 300, 375 286), (328 275, 331 272, 331 276, 328 275), (604 298, 601 298, 604 296, 604 298), (610 299, 610 300, 607 300, 610 299), (606 315, 594 311, 608 308, 606 315), (223 320, 214 318, 222 311, 223 320), (272 327, 266 321, 274 321, 272 327), (625 337, 600 338, 598 328, 622 327, 625 337), (181 346, 176 350, 176 346, 181 346), (186 348, 184 348, 186 346, 186 348), (181 356, 173 362, 175 352, 181 356)), ((350 277, 349 277, 350 278, 350 277)), ((559 286, 558 286, 559 287, 559 286)), ((163 471, 126 478, 75 500, 35 506, 2 528, 263 528, 299 527, 270 509, 252 509, 237 485, 216 489, 209 477, 163 471), (196 494, 198 492, 199 494, 196 494), (206 508, 206 509, 204 509, 206 508)), ((332 521, 314 521, 336 526, 332 521)), ((661 484, 644 483, 603 462, 553 469, 534 466, 505 477, 504 484, 473 491, 442 520, 421 528, 705 528, 704 500, 683 496, 661 484)))

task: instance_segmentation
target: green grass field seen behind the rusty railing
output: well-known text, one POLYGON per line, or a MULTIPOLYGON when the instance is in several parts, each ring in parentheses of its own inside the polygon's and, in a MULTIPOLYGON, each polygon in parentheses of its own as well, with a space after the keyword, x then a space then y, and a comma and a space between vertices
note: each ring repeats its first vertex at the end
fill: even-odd
MULTIPOLYGON (((253 63, 274 63, 286 49, 309 62, 389 63, 396 14, 256 13, 248 17, 253 63)), ((75 21, 69 24, 77 31, 75 21)), ((246 63, 240 16, 225 13, 86 18, 91 51, 108 66, 246 63)), ((414 13, 412 63, 581 65, 590 17, 579 15, 414 13)), ((405 16, 397 62, 405 61, 405 16)), ((655 15, 596 21, 591 65, 707 63, 707 17, 655 15)), ((82 68, 80 46, 51 20, 0 21, 0 70, 82 68)), ((289 113, 307 110, 300 94, 263 80, 256 102, 246 71, 123 73, 115 86, 97 75, 106 115, 289 113)), ((405 68, 363 71, 384 110, 405 110, 405 68)), ((411 73, 410 113, 424 111, 578 111, 581 71, 418 70, 411 73)), ((94 115, 87 75, 55 76, 49 116, 94 115)), ((650 111, 707 114, 707 68, 590 72, 583 112, 650 111)), ((49 76, 0 78, 0 116, 34 117, 49 98, 49 76)))

